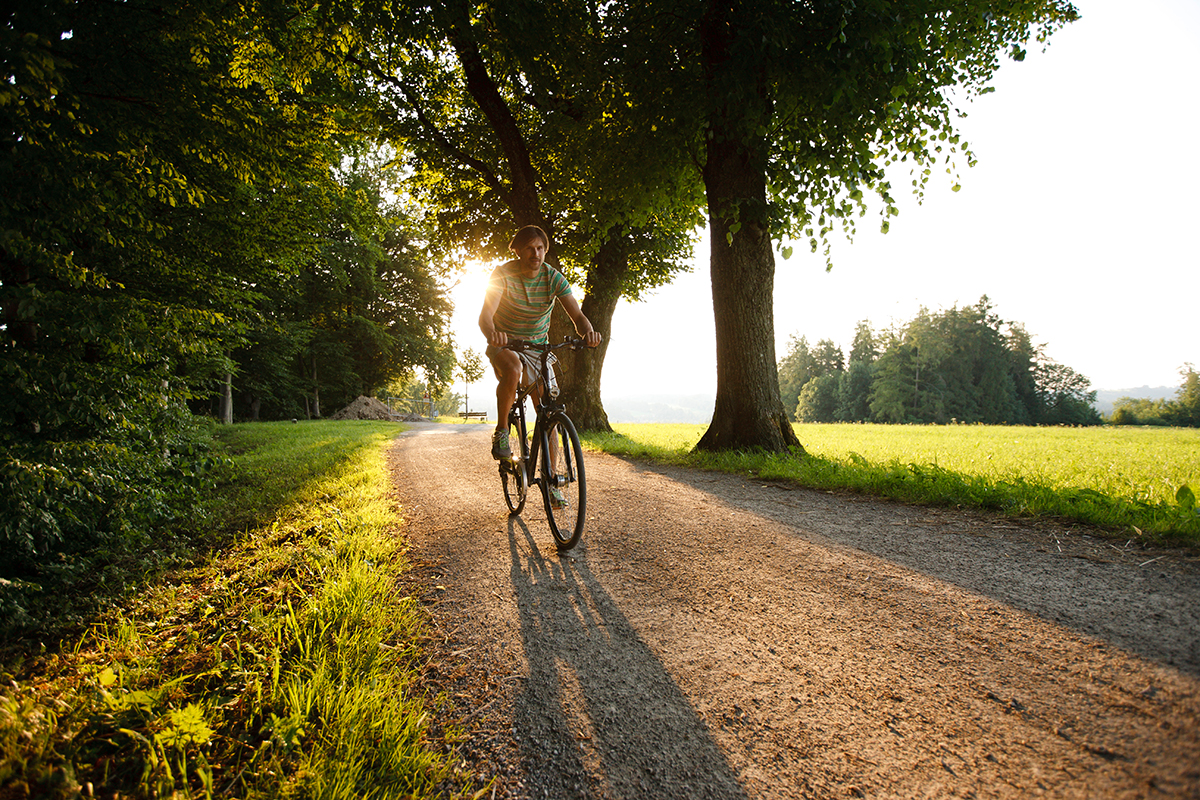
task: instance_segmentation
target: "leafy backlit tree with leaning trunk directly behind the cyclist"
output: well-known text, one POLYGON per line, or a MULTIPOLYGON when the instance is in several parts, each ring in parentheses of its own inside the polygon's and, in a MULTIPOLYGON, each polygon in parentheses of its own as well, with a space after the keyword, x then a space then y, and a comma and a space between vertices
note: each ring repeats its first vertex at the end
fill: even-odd
MULTIPOLYGON (((613 311, 683 269, 696 221, 695 203, 676 199, 695 182, 646 143, 655 126, 619 121, 624 95, 610 72, 632 30, 574 0, 445 0, 431 12, 407 42, 388 37, 361 56, 394 89, 389 132, 412 191, 437 209, 448 251, 506 258, 517 227, 550 234, 547 260, 583 285, 583 312, 604 335, 598 349, 563 356, 563 398, 580 428, 607 429, 600 378, 613 311)), ((552 336, 566 332, 556 315, 552 336)))

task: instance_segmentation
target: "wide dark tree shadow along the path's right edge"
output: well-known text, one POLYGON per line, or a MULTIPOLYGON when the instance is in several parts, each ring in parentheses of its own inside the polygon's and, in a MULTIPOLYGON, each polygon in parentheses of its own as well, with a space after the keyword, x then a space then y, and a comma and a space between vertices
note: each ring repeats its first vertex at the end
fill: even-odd
POLYGON ((1200 570, 1194 559, 1122 554, 1058 541, 984 512, 956 513, 877 498, 839 497, 786 482, 619 459, 710 493, 714 503, 992 597, 1078 633, 1200 676, 1200 570), (1145 563, 1142 563, 1145 561, 1145 563))

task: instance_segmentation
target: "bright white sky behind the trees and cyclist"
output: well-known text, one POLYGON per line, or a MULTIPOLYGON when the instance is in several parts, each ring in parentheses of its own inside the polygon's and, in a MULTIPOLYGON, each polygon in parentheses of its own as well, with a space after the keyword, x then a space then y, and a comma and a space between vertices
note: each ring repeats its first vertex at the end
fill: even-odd
MULTIPOLYGON (((996 91, 966 106, 958 127, 978 163, 960 164, 959 192, 935 172, 918 205, 893 174, 888 234, 868 211, 852 243, 834 234, 829 272, 803 242, 776 251, 776 357, 791 336, 848 350, 859 320, 888 329, 988 295, 1097 390, 1178 386, 1200 363, 1200 0, 1075 7, 1045 52, 1006 60, 996 91)), ((606 399, 715 392, 707 240, 692 267, 618 306, 606 399)), ((485 345, 490 269, 452 294, 460 348, 485 345)))

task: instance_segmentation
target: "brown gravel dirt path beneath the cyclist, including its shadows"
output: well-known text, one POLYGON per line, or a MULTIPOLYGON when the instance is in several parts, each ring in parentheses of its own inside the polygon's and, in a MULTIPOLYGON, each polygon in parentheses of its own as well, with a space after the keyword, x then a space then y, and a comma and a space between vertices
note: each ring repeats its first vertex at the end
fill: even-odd
POLYGON ((488 432, 391 468, 497 798, 1200 796, 1196 559, 599 453, 559 555, 488 432))

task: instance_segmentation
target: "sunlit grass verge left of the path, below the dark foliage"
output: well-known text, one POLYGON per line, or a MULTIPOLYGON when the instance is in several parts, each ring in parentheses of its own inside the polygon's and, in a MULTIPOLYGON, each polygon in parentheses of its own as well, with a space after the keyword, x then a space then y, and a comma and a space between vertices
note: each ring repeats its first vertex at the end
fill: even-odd
MULTIPOLYGON (((395 423, 233 426, 194 561, 5 663, 5 798, 427 798, 421 614, 383 449, 395 423), (34 652, 34 650, 41 650, 34 652)), ((461 790, 466 790, 464 788, 461 790)))

